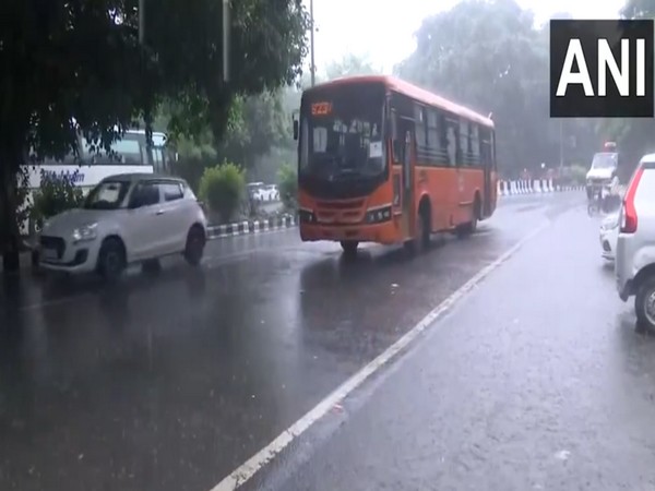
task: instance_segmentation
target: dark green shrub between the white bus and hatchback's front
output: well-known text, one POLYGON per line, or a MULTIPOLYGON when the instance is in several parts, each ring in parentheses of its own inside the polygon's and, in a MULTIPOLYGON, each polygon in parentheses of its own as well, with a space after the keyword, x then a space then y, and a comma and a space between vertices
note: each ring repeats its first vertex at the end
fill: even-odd
POLYGON ((44 220, 67 209, 78 208, 84 202, 82 189, 75 185, 79 171, 55 175, 40 171, 40 187, 34 192, 29 216, 40 228, 44 220))

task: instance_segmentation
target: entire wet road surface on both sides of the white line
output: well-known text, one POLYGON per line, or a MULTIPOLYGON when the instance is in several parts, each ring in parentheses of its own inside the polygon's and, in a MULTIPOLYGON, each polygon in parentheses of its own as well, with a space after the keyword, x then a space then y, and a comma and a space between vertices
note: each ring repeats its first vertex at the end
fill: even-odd
MULTIPOLYGON (((285 230, 214 241, 202 271, 175 261, 118 288, 4 285, 0 489, 210 490, 545 223, 401 362, 355 391, 338 424, 322 418, 248 486, 479 489, 483 471, 497 469, 493 482, 512 489, 525 482, 512 466, 536 469, 537 486, 538 469, 549 476, 552 462, 595 450, 600 468, 614 453, 611 469, 631 458, 609 477, 652 477, 639 458, 655 443, 642 427, 655 346, 630 328, 600 267, 582 194, 510 199, 476 236, 414 259, 370 247, 344 262, 338 246, 285 230), (641 439, 627 452, 632 430, 641 439), (548 435, 558 448, 539 447, 548 435)), ((585 462, 576 479, 593 477, 585 462)))

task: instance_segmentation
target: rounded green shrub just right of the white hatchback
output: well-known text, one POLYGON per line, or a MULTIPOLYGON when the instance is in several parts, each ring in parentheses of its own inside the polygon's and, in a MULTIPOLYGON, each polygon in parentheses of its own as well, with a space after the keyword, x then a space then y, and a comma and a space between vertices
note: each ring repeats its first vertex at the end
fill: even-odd
POLYGON ((243 170, 231 163, 209 167, 200 178, 199 195, 217 213, 221 221, 228 221, 239 207, 246 177, 243 170))

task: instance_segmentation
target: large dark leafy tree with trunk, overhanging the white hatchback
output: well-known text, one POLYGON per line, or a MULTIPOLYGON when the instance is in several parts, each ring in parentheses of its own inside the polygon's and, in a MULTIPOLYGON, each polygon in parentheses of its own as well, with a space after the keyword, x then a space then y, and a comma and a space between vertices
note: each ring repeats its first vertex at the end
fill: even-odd
POLYGON ((306 53, 301 0, 231 1, 230 79, 223 81, 222 2, 7 0, 0 5, 0 247, 17 268, 17 171, 38 158, 76 153, 81 131, 108 148, 136 119, 175 100, 174 133, 209 127, 218 139, 237 95, 290 83, 306 53), (44 83, 47 81, 47 83, 44 83))

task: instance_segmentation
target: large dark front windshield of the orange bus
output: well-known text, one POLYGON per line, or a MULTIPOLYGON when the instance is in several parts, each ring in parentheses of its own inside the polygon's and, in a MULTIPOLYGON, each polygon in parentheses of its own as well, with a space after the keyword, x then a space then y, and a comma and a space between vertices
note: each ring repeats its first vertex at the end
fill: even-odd
POLYGON ((326 181, 382 173, 383 106, 382 85, 310 92, 301 109, 299 172, 326 181))

